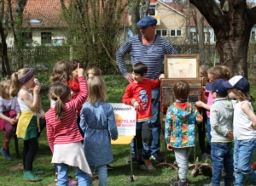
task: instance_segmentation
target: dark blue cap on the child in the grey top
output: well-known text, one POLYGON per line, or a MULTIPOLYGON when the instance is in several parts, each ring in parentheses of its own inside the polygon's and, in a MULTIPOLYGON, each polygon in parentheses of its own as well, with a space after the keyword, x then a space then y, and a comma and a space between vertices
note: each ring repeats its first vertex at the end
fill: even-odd
POLYGON ((220 96, 227 96, 229 88, 226 88, 223 86, 223 82, 225 82, 223 79, 218 79, 215 82, 208 83, 206 85, 206 88, 208 91, 216 92, 220 96))

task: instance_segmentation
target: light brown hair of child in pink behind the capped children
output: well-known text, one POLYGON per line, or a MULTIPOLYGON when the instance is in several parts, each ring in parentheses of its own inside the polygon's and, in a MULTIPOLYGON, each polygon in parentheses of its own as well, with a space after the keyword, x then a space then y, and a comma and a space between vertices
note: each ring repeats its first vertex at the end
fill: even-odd
POLYGON ((215 79, 224 79, 228 81, 231 76, 229 67, 223 66, 212 66, 208 71, 215 79))

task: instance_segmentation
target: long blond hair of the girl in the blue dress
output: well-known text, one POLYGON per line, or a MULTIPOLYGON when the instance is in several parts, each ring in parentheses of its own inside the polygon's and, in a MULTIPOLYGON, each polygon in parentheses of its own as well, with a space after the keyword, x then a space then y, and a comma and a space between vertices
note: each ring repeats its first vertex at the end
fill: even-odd
POLYGON ((92 76, 87 80, 88 98, 90 104, 103 102, 108 99, 107 86, 102 79, 102 76, 92 76))

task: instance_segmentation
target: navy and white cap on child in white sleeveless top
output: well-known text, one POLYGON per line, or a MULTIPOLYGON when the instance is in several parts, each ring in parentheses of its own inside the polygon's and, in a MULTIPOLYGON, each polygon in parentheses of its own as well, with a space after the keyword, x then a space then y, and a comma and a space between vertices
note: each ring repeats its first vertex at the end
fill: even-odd
POLYGON ((226 88, 236 88, 241 90, 243 93, 250 91, 250 83, 247 81, 247 78, 244 76, 233 76, 229 81, 222 83, 226 88))

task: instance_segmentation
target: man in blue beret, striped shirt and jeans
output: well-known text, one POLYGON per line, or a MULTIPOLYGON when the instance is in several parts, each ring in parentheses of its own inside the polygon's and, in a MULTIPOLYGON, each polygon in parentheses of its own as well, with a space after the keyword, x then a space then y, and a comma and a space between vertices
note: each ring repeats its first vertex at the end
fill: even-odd
MULTIPOLYGON (((165 54, 177 54, 172 45, 162 37, 155 35, 157 20, 154 17, 144 17, 137 22, 141 33, 131 37, 125 42, 116 53, 116 60, 119 70, 123 76, 131 82, 132 76, 125 65, 125 54, 131 54, 131 65, 138 62, 148 66, 148 73, 145 78, 152 80, 158 79, 162 70, 165 54)), ((154 161, 162 162, 163 157, 160 155, 160 87, 152 90, 152 158, 154 161)), ((134 145, 134 144, 133 144, 134 145)), ((136 160, 136 155, 131 144, 132 161, 136 160)), ((128 157, 127 161, 130 161, 128 157)))

